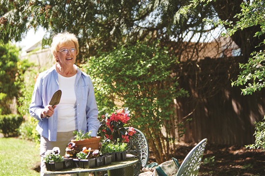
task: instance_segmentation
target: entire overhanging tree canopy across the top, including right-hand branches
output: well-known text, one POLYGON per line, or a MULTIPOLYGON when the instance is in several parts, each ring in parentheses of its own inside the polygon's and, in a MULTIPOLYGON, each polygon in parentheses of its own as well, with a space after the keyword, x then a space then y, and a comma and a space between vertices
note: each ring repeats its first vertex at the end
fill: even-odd
POLYGON ((242 64, 252 58, 251 69, 240 65, 244 71, 232 83, 246 84, 242 92, 249 94, 264 87, 263 16, 263 0, 3 0, 0 41, 19 41, 30 28, 43 27, 47 46, 54 33, 67 30, 79 38, 77 59, 84 62, 98 51, 159 39, 179 61, 191 61, 199 58, 199 43, 226 32, 240 48, 242 64))

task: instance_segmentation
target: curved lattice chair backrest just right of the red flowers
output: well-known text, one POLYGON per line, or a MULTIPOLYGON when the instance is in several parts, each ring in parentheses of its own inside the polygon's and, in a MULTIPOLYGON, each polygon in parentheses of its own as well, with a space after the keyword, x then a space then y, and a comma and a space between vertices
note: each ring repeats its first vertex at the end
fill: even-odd
POLYGON ((149 149, 145 136, 141 131, 135 129, 135 138, 130 140, 129 147, 127 150, 128 154, 132 154, 137 157, 139 162, 134 166, 134 176, 138 176, 140 174, 140 168, 144 167, 149 158, 149 149))

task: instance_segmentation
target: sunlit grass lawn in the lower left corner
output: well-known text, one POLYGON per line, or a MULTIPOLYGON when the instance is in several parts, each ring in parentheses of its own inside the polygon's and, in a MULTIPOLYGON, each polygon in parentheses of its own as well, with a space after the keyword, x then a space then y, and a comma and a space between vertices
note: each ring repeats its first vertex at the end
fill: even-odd
POLYGON ((0 176, 39 176, 39 149, 27 140, 0 138, 0 176))

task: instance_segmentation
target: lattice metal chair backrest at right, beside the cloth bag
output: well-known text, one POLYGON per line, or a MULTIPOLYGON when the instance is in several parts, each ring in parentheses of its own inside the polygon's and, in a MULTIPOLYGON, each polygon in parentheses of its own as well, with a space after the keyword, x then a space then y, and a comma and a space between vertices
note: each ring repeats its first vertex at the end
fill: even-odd
POLYGON ((175 176, 197 176, 207 139, 201 140, 185 157, 175 176))

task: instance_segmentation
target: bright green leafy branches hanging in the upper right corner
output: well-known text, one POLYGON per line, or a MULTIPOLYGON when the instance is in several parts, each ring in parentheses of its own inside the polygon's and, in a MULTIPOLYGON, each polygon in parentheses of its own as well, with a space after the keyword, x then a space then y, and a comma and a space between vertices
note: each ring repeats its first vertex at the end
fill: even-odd
POLYGON ((212 6, 218 14, 218 19, 207 17, 204 20, 215 26, 223 25, 225 34, 240 47, 241 55, 247 61, 239 64, 242 71, 231 85, 246 85, 241 89, 244 95, 260 91, 265 87, 264 0, 192 0, 175 13, 175 20, 179 20, 179 15, 186 15, 196 9, 201 3, 212 6))

